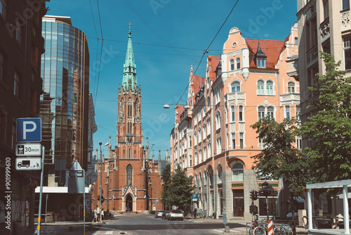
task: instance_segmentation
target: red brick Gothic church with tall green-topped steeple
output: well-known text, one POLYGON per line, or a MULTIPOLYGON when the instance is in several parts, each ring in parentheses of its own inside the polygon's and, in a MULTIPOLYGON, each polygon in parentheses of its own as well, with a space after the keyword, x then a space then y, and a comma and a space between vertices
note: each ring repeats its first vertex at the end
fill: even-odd
MULTIPOLYGON (((110 140, 108 158, 104 158, 101 169, 102 208, 110 211, 130 208, 132 212, 161 210, 161 154, 155 159, 152 153, 149 158, 148 139, 143 146, 141 89, 136 78, 131 34, 129 25, 123 81, 118 89, 117 143, 112 149, 110 140)), ((100 164, 95 169, 98 179, 93 184, 93 209, 100 207, 100 164)))

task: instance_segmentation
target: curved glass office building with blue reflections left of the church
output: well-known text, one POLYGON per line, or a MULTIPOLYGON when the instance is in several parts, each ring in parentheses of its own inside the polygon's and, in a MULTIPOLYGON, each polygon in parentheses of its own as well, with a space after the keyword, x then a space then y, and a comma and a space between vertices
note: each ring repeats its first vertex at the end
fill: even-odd
POLYGON ((88 43, 69 17, 45 15, 42 34, 40 117, 48 175, 44 186, 67 186, 67 170, 75 160, 87 167, 88 43))

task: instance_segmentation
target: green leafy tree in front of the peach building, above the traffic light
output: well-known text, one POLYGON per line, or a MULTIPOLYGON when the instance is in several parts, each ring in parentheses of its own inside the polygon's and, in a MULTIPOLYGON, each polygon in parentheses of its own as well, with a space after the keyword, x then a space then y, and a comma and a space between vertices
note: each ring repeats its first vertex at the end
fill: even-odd
POLYGON ((251 125, 265 144, 263 151, 252 157, 253 168, 272 179, 282 178, 291 196, 301 196, 307 181, 307 161, 291 144, 295 142, 296 125, 295 118, 278 123, 270 117, 251 125))

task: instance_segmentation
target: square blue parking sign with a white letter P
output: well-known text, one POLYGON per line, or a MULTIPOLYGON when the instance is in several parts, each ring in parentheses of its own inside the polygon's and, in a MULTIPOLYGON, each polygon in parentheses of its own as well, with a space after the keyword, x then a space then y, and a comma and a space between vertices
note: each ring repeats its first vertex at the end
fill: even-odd
POLYGON ((18 118, 16 127, 18 142, 41 142, 41 118, 18 118))

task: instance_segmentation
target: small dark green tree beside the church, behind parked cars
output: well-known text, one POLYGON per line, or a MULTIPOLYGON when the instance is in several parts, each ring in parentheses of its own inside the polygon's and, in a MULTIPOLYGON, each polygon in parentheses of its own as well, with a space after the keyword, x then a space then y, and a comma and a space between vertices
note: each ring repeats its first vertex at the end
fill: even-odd
POLYGON ((171 177, 172 205, 175 205, 179 210, 190 210, 192 191, 194 191, 192 176, 187 177, 185 169, 177 165, 171 177))

